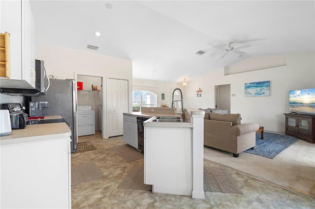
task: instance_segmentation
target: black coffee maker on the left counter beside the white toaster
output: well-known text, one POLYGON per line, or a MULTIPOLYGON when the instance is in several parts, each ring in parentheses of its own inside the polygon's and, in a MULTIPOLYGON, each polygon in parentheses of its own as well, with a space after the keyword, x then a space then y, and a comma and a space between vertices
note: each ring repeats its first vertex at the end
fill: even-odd
POLYGON ((7 109, 10 112, 12 129, 25 129, 28 122, 28 114, 24 112, 26 109, 19 103, 1 104, 1 109, 7 109))

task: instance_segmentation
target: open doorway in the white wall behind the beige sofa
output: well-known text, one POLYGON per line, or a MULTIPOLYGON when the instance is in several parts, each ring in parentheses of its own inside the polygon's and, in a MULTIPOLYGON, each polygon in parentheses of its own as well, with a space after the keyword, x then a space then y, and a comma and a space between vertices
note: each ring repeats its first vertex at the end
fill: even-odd
POLYGON ((228 113, 231 113, 231 85, 217 85, 215 86, 215 104, 216 108, 227 110, 228 113))

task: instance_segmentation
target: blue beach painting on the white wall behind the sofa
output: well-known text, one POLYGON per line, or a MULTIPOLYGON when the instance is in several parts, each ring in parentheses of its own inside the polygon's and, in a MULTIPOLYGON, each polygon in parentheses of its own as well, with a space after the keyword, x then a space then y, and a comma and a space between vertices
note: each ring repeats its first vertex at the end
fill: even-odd
POLYGON ((245 97, 270 96, 270 81, 245 83, 245 97))

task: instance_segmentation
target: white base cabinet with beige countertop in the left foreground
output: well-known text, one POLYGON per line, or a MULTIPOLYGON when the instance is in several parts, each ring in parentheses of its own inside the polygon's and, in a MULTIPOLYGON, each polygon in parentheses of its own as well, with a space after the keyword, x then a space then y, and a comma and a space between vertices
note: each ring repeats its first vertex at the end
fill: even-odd
POLYGON ((51 123, 0 137, 0 208, 71 208, 70 136, 51 123))

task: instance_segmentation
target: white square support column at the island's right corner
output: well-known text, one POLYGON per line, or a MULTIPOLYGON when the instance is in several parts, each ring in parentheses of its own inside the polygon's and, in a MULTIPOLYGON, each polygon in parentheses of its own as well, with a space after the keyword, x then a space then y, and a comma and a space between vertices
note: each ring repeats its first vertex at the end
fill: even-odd
POLYGON ((203 120, 204 111, 191 112, 192 116, 192 198, 206 199, 203 190, 203 120))

